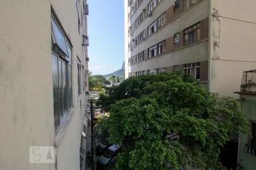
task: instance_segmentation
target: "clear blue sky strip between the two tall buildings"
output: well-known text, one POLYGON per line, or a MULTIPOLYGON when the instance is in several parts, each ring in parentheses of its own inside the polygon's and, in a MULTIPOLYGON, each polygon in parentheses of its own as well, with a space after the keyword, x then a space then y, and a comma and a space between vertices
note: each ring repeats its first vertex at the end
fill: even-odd
POLYGON ((125 61, 123 0, 88 0, 88 36, 92 74, 109 74, 125 61))

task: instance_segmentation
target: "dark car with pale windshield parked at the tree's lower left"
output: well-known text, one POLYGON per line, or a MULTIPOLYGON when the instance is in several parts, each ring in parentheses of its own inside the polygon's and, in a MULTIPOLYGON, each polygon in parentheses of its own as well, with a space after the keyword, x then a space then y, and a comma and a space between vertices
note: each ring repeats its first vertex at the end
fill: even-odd
POLYGON ((97 169, 104 169, 110 162, 115 159, 118 152, 120 150, 120 146, 112 145, 110 146, 104 154, 97 159, 97 169))

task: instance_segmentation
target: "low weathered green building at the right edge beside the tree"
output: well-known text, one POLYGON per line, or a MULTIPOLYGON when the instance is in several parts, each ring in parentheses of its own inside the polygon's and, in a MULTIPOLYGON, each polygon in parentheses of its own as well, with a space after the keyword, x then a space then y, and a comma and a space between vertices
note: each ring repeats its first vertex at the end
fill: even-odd
POLYGON ((240 134, 237 162, 240 169, 253 170, 256 167, 256 70, 243 72, 240 95, 241 112, 245 114, 251 131, 240 134))

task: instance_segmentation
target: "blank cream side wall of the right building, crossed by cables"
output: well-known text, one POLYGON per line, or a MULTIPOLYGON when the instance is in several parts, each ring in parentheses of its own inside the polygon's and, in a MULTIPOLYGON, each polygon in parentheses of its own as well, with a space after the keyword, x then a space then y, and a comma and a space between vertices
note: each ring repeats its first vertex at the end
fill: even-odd
POLYGON ((210 1, 210 92, 238 96, 242 72, 256 68, 256 1, 210 1))

